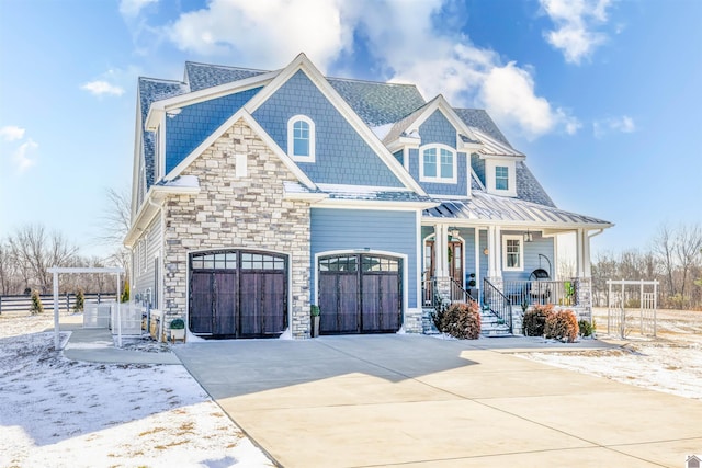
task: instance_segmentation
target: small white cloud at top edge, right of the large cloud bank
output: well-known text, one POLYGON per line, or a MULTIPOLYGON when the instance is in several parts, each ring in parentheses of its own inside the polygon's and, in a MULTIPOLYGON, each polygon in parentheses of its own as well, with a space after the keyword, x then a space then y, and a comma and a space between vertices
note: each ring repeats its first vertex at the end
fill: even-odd
POLYGON ((556 28, 544 33, 548 44, 563 52, 566 61, 579 65, 607 41, 595 31, 607 22, 612 0, 541 0, 556 28))

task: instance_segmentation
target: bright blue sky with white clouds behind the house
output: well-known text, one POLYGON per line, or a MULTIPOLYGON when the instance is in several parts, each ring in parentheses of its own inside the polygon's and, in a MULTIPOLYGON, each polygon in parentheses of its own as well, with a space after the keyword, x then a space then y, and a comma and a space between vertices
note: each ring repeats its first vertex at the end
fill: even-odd
POLYGON ((301 52, 328 76, 486 109, 559 208, 615 225, 595 254, 702 222, 697 0, 0 0, 0 238, 39 222, 106 255, 137 78, 301 52))

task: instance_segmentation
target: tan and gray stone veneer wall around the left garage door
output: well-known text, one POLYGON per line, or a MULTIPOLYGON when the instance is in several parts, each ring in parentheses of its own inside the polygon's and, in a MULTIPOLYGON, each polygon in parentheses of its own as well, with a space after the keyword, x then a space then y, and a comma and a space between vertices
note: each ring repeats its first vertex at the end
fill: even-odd
POLYGON ((283 199, 283 181, 296 178, 244 121, 237 122, 183 175, 200 180, 197 195, 165 204, 163 285, 167 324, 185 317, 188 254, 204 249, 260 249, 290 255, 294 338, 309 338, 309 205, 283 199), (247 155, 236 176, 236 155, 247 155))

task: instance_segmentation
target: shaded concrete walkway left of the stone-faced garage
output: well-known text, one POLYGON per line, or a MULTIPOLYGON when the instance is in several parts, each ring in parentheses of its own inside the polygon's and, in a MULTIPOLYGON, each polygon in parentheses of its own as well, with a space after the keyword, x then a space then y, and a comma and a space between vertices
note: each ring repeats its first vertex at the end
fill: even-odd
POLYGON ((84 329, 81 324, 61 323, 61 331, 70 331, 64 356, 71 361, 122 364, 181 364, 173 353, 147 353, 115 347, 107 329, 84 329))

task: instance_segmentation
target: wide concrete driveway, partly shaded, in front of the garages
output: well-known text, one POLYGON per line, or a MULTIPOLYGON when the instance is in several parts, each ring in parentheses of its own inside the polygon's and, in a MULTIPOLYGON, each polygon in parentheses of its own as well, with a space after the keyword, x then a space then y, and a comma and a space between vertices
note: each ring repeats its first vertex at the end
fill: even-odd
POLYGON ((525 361, 505 340, 347 335, 176 350, 284 467, 683 467, 702 455, 702 402, 525 361))

